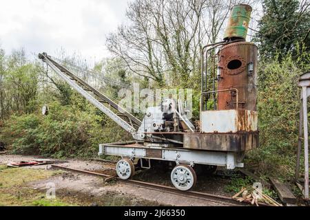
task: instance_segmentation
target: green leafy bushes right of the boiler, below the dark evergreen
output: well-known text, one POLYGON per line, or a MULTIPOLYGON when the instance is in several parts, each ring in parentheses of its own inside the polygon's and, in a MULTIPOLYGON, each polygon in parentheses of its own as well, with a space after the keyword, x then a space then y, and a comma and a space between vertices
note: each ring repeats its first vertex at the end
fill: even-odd
POLYGON ((278 61, 260 61, 258 72, 258 127, 260 147, 251 151, 246 164, 261 175, 293 177, 298 144, 300 111, 300 74, 309 69, 310 55, 302 52, 307 63, 294 61, 287 54, 278 61))

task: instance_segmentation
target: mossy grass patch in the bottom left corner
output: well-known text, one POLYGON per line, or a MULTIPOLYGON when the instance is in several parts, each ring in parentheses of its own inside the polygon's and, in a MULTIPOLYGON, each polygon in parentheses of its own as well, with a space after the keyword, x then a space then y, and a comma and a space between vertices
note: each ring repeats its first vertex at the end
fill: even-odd
POLYGON ((0 206, 158 206, 154 201, 137 199, 116 192, 88 195, 59 189, 56 199, 47 199, 45 190, 34 190, 29 183, 64 173, 61 170, 8 168, 0 166, 0 206))

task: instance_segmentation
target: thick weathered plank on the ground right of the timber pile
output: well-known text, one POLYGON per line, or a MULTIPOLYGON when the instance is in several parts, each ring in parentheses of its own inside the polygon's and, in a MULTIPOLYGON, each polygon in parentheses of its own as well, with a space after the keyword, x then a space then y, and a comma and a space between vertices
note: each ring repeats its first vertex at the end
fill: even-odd
POLYGON ((283 184, 279 179, 271 178, 269 177, 271 184, 278 192, 279 198, 283 203, 290 203, 295 204, 296 203, 296 197, 293 195, 291 190, 283 184))

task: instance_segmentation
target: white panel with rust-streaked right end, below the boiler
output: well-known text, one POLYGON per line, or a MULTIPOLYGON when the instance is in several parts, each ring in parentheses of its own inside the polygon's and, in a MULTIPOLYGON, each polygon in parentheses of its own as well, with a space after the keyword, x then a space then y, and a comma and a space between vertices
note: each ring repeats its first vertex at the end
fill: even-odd
POLYGON ((248 110, 203 111, 201 133, 238 133, 257 131, 258 114, 248 110))

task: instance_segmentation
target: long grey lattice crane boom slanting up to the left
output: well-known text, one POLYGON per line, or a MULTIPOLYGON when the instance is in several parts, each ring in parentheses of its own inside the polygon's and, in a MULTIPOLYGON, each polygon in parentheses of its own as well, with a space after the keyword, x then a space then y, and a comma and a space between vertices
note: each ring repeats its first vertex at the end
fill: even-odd
POLYGON ((72 74, 68 69, 54 61, 47 54, 39 54, 39 58, 44 61, 48 66, 50 66, 54 72, 59 75, 63 80, 65 80, 68 85, 70 85, 73 89, 75 89, 79 94, 81 94, 84 98, 86 98, 89 102, 94 104, 95 107, 100 109, 105 115, 111 118, 116 124, 121 126, 125 131, 128 131, 133 135, 135 139, 138 139, 137 129, 135 126, 140 126, 141 121, 134 117, 134 115, 127 112, 125 109, 120 107, 118 104, 107 98, 100 91, 85 83, 84 80, 79 78, 78 76, 72 74), (92 95, 90 94, 92 93, 92 95), (94 98, 94 96, 96 98, 94 98), (128 121, 124 120, 117 115, 113 111, 111 111, 108 107, 106 107, 103 103, 109 104, 110 107, 113 107, 118 112, 121 113, 122 116, 128 119, 128 121))

